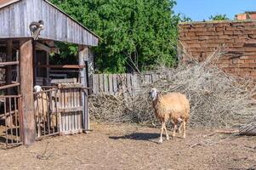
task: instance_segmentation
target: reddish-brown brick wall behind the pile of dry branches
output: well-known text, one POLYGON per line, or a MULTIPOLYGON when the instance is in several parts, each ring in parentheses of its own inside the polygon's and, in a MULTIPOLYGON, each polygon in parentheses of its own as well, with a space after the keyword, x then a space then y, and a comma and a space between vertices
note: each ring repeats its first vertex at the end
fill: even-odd
MULTIPOLYGON (((179 42, 187 54, 202 61, 219 47, 216 62, 225 72, 256 79, 256 21, 213 21, 179 24, 179 42)), ((183 59, 188 59, 183 55, 183 59)))

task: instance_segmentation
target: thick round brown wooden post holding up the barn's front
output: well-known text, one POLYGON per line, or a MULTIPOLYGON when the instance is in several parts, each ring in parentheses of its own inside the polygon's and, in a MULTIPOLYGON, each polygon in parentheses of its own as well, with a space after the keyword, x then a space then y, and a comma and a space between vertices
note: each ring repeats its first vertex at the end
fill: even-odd
POLYGON ((20 94, 23 100, 23 144, 31 145, 36 140, 32 40, 20 42, 20 94))

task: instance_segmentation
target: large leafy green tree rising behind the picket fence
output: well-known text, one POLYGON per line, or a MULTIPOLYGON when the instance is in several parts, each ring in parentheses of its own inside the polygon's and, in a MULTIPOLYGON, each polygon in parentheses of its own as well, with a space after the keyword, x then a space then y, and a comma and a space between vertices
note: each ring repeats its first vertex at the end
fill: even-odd
MULTIPOLYGON (((174 0, 52 0, 102 40, 94 48, 102 72, 173 66, 179 15, 174 0)), ((67 49, 67 48, 65 48, 67 49)), ((70 55, 65 50, 63 55, 70 55)))

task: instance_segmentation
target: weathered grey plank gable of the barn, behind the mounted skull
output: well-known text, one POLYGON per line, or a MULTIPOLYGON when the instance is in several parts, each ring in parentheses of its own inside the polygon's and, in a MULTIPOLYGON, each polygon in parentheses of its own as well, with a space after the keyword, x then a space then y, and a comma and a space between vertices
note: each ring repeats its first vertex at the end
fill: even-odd
POLYGON ((44 23, 40 39, 98 45, 99 36, 46 0, 0 0, 0 38, 31 37, 29 26, 38 20, 44 23))

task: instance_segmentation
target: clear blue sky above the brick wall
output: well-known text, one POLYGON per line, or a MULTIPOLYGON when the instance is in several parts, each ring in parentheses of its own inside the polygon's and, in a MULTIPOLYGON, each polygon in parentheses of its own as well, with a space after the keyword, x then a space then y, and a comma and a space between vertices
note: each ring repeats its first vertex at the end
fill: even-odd
POLYGON ((211 15, 227 14, 233 20, 236 14, 256 11, 256 0, 176 0, 176 14, 185 14, 193 21, 208 20, 211 15))

